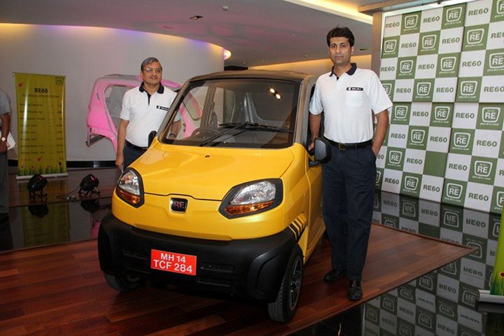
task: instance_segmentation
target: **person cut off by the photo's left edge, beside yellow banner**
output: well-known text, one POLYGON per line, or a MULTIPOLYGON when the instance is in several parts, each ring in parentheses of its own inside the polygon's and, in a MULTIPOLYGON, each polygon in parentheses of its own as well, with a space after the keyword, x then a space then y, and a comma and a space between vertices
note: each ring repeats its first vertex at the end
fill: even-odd
POLYGON ((0 216, 8 214, 7 134, 10 132, 10 98, 0 90, 0 216))

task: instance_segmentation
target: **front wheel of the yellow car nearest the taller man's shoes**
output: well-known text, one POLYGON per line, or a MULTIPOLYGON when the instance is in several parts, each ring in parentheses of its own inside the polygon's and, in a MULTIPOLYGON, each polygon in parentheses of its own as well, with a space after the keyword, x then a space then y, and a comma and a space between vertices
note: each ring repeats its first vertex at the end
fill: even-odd
POLYGON ((276 301, 268 304, 269 318, 273 321, 285 323, 294 317, 301 293, 302 273, 303 256, 301 248, 296 245, 290 253, 276 301))

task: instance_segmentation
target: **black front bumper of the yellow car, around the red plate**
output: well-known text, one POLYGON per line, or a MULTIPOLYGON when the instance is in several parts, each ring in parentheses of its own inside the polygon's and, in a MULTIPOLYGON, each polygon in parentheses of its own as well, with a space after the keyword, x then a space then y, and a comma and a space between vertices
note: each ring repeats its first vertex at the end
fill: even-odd
POLYGON ((112 214, 99 228, 102 271, 114 276, 139 276, 149 281, 197 290, 276 300, 289 255, 296 245, 290 229, 256 239, 217 241, 163 235, 134 228, 112 214), (195 255, 195 276, 151 268, 151 250, 195 255))

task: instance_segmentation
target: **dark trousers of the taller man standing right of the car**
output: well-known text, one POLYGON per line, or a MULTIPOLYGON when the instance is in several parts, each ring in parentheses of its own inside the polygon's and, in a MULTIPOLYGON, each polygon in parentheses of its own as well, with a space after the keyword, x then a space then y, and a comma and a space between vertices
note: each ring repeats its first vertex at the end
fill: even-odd
POLYGON ((360 280, 371 230, 376 156, 371 146, 339 150, 322 167, 323 218, 333 269, 360 280))

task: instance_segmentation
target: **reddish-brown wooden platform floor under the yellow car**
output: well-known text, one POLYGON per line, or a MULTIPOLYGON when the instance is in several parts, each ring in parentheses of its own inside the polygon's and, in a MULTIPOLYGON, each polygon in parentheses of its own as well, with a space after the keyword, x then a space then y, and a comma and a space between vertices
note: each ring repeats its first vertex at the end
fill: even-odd
POLYGON ((178 288, 110 288, 94 240, 0 253, 1 335, 289 335, 335 316, 474 249, 372 225, 363 299, 346 298, 346 279, 324 283, 330 247, 323 239, 304 268, 300 307, 289 323, 265 306, 198 296, 178 288))

